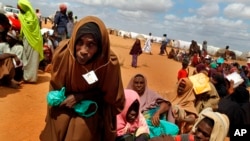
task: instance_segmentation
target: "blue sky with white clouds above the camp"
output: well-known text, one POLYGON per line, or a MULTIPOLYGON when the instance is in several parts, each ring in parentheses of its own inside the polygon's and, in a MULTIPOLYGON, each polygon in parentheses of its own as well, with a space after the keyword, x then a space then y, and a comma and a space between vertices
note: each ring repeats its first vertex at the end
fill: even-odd
MULTIPOLYGON (((1 0, 16 6, 18 0, 1 0)), ((78 19, 94 15, 109 28, 219 48, 250 51, 250 0, 30 0, 42 16, 65 3, 78 19)))

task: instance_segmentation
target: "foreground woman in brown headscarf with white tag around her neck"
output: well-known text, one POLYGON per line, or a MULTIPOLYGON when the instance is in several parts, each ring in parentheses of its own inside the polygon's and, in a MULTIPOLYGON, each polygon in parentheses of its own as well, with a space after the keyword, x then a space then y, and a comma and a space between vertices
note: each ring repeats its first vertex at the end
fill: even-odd
MULTIPOLYGON (((114 141, 116 115, 125 97, 118 58, 110 50, 104 23, 88 16, 77 22, 69 40, 60 42, 52 60, 50 90, 65 87, 66 99, 48 106, 42 141, 114 141), (90 117, 72 107, 91 100, 98 109, 90 117)), ((87 110, 93 112, 93 107, 87 110)))

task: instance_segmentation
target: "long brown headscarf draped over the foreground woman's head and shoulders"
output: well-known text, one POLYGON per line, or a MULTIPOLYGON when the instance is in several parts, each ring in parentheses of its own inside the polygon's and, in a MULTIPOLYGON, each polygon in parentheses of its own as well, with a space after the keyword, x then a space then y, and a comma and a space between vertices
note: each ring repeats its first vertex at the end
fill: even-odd
MULTIPOLYGON (((89 89, 99 88, 105 92, 104 98, 108 103, 115 104, 117 100, 124 101, 118 58, 110 50, 107 29, 100 19, 93 16, 83 18, 75 25, 72 37, 69 40, 60 42, 52 59, 50 84, 51 89, 56 90, 65 86, 66 92, 84 92, 89 89), (98 50, 101 50, 101 53, 98 54, 94 60, 83 66, 75 60, 74 54, 75 42, 79 38, 79 34, 83 34, 79 33, 79 30, 83 28, 86 23, 95 23, 99 27, 101 37, 98 39, 101 39, 101 46, 98 47, 98 50), (94 70, 98 81, 89 85, 82 75, 91 70, 94 70)), ((123 108, 123 106, 120 108, 123 108)), ((117 109, 117 113, 120 112, 120 108, 119 110, 117 109)))

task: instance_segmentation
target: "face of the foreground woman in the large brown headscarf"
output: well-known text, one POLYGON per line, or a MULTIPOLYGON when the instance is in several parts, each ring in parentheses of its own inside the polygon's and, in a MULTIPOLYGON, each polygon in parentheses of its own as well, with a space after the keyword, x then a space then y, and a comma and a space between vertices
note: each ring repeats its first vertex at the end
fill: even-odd
POLYGON ((85 65, 97 52, 97 41, 92 34, 85 34, 76 41, 76 60, 85 65))

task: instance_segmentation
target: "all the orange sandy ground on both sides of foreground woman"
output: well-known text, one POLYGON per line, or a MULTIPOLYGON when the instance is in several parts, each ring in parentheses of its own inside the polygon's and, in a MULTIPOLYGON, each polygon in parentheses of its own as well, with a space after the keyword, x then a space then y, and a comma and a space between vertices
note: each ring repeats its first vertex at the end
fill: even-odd
MULTIPOLYGON (((110 41, 111 48, 120 61, 124 88, 132 76, 142 73, 148 78, 151 89, 168 99, 173 98, 177 71, 181 68, 179 62, 167 59, 165 55, 158 55, 160 45, 153 44, 153 55, 142 54, 138 59, 138 67, 132 68, 129 50, 134 40, 110 35, 110 41)), ((45 125, 49 80, 49 73, 39 71, 37 84, 23 84, 19 90, 0 86, 1 141, 39 140, 39 134, 45 125)))

